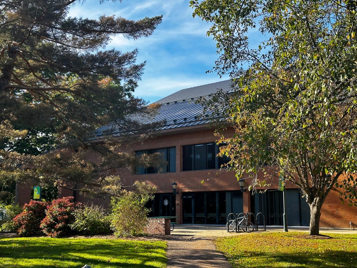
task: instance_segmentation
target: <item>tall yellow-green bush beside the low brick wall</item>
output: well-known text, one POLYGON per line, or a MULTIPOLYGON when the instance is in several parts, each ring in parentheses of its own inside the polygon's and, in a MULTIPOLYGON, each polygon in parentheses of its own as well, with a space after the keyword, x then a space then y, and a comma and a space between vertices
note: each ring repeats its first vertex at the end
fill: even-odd
POLYGON ((146 226, 150 210, 145 204, 154 197, 155 187, 144 182, 135 182, 134 186, 136 190, 123 190, 120 197, 111 201, 111 227, 117 237, 140 235, 146 226))

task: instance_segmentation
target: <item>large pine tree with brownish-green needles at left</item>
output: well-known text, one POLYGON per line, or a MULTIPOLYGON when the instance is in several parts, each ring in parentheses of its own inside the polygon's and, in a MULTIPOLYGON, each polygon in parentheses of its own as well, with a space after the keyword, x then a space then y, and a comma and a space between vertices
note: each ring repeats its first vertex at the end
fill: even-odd
POLYGON ((105 47, 115 35, 150 36, 162 16, 69 17, 77 2, 0 0, 0 180, 110 192, 103 185, 113 179, 105 177, 136 161, 118 148, 160 124, 128 116, 155 114, 155 106, 133 95, 145 66, 136 63, 138 51, 105 47), (95 137, 110 122, 121 138, 112 131, 95 137), (86 158, 94 153, 96 161, 86 158))

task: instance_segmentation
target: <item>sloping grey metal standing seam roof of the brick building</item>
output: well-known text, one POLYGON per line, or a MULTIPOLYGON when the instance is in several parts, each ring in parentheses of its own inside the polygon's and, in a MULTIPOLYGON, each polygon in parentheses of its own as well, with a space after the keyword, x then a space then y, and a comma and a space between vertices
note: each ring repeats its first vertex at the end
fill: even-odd
MULTIPOLYGON (((141 115, 132 115, 133 120, 141 121, 142 124, 155 123, 165 120, 166 124, 159 130, 181 128, 184 126, 202 125, 208 123, 207 120, 198 119, 198 115, 203 112, 203 106, 195 101, 200 97, 209 97, 218 90, 229 93, 232 91, 232 81, 225 80, 216 83, 194 86, 192 88, 181 89, 162 98, 154 103, 160 104, 158 114, 152 118, 143 118, 141 115)), ((101 126, 95 131, 96 137, 103 137, 111 133, 113 136, 120 136, 120 130, 116 123, 101 126)))

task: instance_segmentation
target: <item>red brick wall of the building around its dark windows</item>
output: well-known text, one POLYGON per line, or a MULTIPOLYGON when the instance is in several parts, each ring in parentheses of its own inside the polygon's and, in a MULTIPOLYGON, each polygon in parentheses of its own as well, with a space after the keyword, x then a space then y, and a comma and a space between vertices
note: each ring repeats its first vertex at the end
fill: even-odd
MULTIPOLYGON (((227 131, 226 137, 229 137, 233 130, 227 131)), ((134 144, 127 148, 127 151, 145 150, 145 149, 158 149, 165 147, 176 147, 176 172, 160 173, 160 174, 132 174, 132 170, 127 170, 121 173, 122 182, 124 185, 132 185, 136 180, 144 181, 157 188, 157 193, 172 193, 172 182, 175 180, 177 183, 176 196, 176 216, 177 223, 182 223, 182 192, 200 192, 200 191, 231 191, 240 190, 239 183, 235 178, 233 172, 222 172, 217 177, 215 174, 219 172, 218 169, 212 170, 195 170, 195 171, 182 171, 182 145, 199 144, 214 142, 216 137, 213 135, 212 129, 201 129, 191 132, 181 133, 166 133, 152 139, 146 140, 141 144, 134 144), (201 181, 204 180, 202 184, 201 181)), ((89 156, 95 159, 95 155, 89 156)), ((263 179, 263 172, 258 176, 263 179)), ((249 185, 250 181, 247 180, 246 184, 249 185)), ((278 188, 278 183, 274 183, 272 189, 278 188)), ((297 188, 292 183, 288 182, 286 188, 297 188)), ((21 192, 20 192, 21 193, 21 192)), ((22 195, 22 194, 21 194, 22 195)), ((72 195, 71 191, 60 189, 59 196, 72 195)), ((29 196, 25 193, 22 200, 29 201, 29 196), (26 197, 25 197, 26 196, 26 197)), ((20 197, 19 197, 20 198, 20 197)), ((83 203, 94 201, 96 204, 107 206, 110 198, 92 199, 90 196, 77 195, 77 200, 83 203)), ((243 211, 251 211, 249 192, 243 193, 243 211)), ((357 208, 348 207, 347 204, 342 204, 338 198, 338 194, 331 192, 322 208, 321 227, 350 227, 350 222, 357 224, 357 208)), ((357 226, 357 225, 355 225, 357 226)))

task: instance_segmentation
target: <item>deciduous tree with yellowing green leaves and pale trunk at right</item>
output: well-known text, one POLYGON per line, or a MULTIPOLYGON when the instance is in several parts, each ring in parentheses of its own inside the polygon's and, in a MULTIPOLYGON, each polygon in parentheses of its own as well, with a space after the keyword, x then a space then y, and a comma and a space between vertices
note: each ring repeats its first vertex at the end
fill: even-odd
POLYGON ((327 194, 356 204, 356 2, 296 0, 191 1, 217 41, 213 71, 230 74, 231 94, 203 103, 221 134, 237 177, 269 186, 278 172, 310 205, 319 234, 327 194), (257 29, 257 30, 256 30, 257 29), (260 44, 251 42, 262 36, 260 44), (226 105, 217 105, 224 103, 226 105), (216 120, 215 118, 223 120, 216 120), (256 174, 265 170, 265 180, 256 174))

